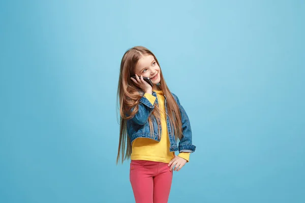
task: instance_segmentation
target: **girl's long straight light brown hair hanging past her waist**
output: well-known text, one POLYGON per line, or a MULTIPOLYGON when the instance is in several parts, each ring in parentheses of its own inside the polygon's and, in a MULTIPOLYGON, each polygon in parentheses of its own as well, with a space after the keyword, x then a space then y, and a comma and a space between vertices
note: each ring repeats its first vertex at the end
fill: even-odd
MULTIPOLYGON (((142 46, 136 46, 125 52, 123 58, 120 63, 120 73, 118 79, 118 87, 117 87, 117 101, 119 101, 119 112, 120 112, 120 130, 119 130, 119 143, 116 157, 116 164, 119 161, 121 156, 121 162, 124 160, 130 159, 132 146, 131 139, 128 136, 127 132, 127 120, 131 119, 138 112, 139 108, 139 100, 143 96, 144 92, 139 87, 137 87, 134 82, 130 79, 132 75, 134 75, 134 69, 139 61, 139 59, 143 55, 152 55, 157 64, 160 67, 160 64, 153 54, 153 52, 149 51, 147 48, 142 46)), ((179 107, 174 99, 173 95, 169 91, 165 80, 162 75, 161 67, 160 67, 160 89, 163 91, 165 96, 167 97, 167 116, 169 117, 171 129, 174 130, 175 139, 181 139, 182 137, 182 123, 181 123, 181 115, 179 107)), ((157 120, 158 123, 158 131, 160 134, 160 110, 159 106, 155 103, 155 108, 151 115, 148 118, 149 127, 150 127, 150 136, 153 137, 154 127, 153 127, 153 119, 157 120)))

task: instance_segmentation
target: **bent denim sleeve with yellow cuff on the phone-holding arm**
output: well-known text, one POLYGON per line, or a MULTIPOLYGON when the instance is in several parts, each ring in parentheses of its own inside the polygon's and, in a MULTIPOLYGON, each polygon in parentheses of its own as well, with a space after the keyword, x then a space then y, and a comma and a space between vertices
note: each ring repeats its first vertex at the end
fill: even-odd
POLYGON ((139 102, 139 110, 132 118, 132 121, 139 125, 144 125, 148 120, 151 112, 153 112, 155 106, 156 97, 145 93, 142 98, 140 98, 139 102))

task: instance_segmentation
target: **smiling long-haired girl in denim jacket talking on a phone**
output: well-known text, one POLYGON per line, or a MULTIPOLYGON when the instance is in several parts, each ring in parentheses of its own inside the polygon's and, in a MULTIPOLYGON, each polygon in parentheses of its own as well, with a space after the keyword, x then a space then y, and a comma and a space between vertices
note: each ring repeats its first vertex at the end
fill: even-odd
POLYGON ((156 56, 145 47, 133 47, 124 54, 117 94, 116 163, 120 156, 122 163, 131 159, 130 182, 137 203, 167 202, 173 170, 179 171, 196 148, 188 115, 167 87, 156 56))

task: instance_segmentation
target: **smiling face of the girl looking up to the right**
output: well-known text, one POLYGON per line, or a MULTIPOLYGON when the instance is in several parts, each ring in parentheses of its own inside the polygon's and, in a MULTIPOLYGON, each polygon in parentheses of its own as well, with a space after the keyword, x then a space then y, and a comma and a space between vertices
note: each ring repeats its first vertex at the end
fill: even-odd
POLYGON ((135 74, 139 77, 150 78, 153 84, 160 82, 160 67, 156 62, 154 56, 152 55, 143 55, 135 67, 135 74))

